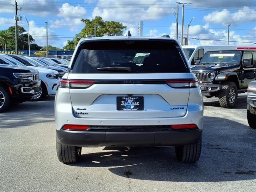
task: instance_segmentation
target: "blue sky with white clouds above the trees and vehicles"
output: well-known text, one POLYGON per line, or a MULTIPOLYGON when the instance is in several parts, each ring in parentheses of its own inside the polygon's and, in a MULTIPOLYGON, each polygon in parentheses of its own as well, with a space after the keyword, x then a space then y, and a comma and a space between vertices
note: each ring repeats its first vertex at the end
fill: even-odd
MULTIPOLYGON (((137 36, 137 26, 144 21, 143 35, 175 36, 177 0, 17 0, 19 22, 28 28, 24 14, 30 23, 30 34, 35 43, 62 48, 67 40, 84 27, 81 18, 101 16, 104 20, 122 22, 132 35, 137 36)), ((189 28, 189 44, 226 44, 227 26, 230 26, 230 44, 256 46, 256 0, 180 0, 185 5, 184 36, 186 26, 195 16, 189 28), (194 39, 192 39, 194 38, 194 39), (219 41, 216 41, 219 40, 219 41)), ((0 0, 0 29, 14 26, 14 0, 0 0)), ((179 5, 179 36, 182 5, 179 5)), ((126 30, 126 31, 127 31, 126 30)), ((124 34, 125 32, 124 31, 124 34)))

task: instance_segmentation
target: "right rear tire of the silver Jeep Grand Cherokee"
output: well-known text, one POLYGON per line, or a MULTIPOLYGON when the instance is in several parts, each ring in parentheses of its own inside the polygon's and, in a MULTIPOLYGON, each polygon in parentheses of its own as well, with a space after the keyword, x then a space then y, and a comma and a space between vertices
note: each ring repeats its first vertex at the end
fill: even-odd
POLYGON ((193 163, 198 161, 201 155, 201 140, 195 144, 175 147, 175 153, 178 161, 193 163))

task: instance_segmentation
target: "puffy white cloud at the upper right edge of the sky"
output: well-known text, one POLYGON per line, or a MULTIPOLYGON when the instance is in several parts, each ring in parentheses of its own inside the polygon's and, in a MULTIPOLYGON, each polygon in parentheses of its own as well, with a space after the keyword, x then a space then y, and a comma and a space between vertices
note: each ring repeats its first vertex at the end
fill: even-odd
POLYGON ((222 11, 214 11, 204 16, 204 20, 208 23, 222 23, 223 25, 256 22, 256 11, 246 6, 234 13, 223 9, 222 11))

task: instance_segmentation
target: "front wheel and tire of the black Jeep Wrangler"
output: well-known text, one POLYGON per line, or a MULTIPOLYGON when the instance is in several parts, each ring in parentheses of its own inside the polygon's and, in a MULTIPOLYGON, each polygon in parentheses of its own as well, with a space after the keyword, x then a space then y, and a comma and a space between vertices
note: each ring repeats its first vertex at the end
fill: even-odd
POLYGON ((223 108, 233 108, 236 104, 237 94, 236 84, 234 82, 225 82, 218 94, 220 106, 223 108))

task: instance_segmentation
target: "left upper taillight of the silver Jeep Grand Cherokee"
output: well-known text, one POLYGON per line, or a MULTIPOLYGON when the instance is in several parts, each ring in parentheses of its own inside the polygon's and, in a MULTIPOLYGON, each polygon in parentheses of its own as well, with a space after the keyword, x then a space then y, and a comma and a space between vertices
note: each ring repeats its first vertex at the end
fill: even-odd
POLYGON ((62 79, 60 88, 86 89, 94 84, 94 81, 62 79))

